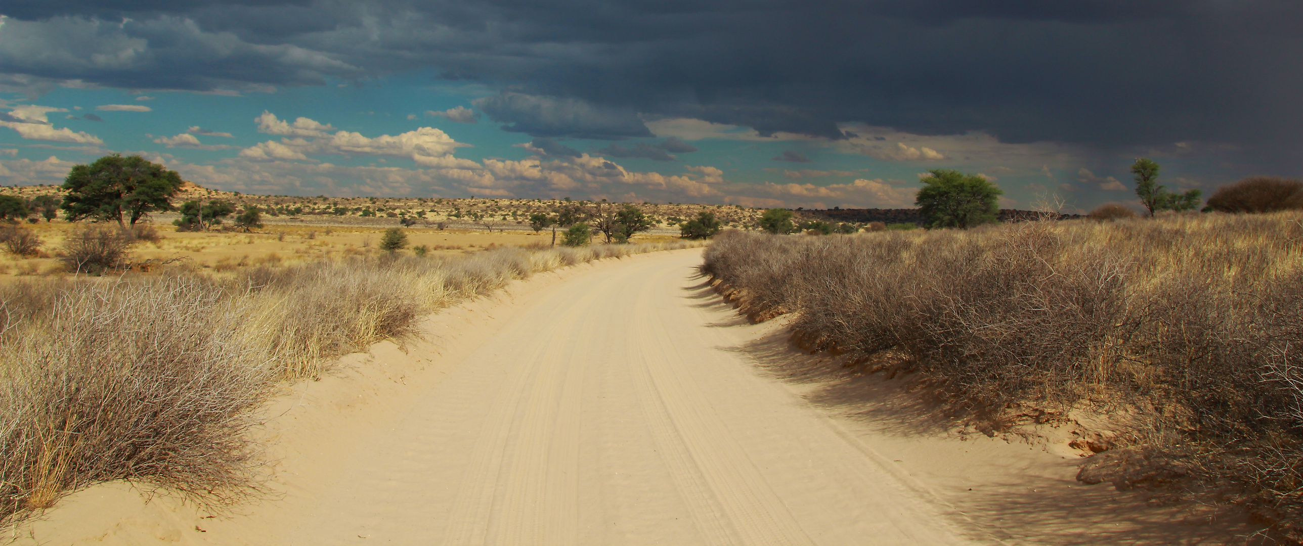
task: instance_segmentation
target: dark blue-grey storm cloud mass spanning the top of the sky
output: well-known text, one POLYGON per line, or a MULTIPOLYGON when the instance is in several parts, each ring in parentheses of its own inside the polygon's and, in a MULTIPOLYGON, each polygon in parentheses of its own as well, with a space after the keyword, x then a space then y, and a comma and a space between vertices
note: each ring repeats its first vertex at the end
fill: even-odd
POLYGON ((478 108, 545 137, 646 136, 638 112, 829 139, 860 121, 1095 147, 1224 142, 1295 167, 1303 145, 1295 1, 104 4, 7 3, 0 73, 212 89, 425 68, 517 93, 478 108))

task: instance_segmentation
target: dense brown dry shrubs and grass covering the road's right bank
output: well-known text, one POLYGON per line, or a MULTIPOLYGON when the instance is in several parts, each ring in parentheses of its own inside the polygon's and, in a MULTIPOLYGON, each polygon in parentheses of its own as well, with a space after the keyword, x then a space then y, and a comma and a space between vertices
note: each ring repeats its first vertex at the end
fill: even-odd
MULTIPOLYGON (((903 354, 951 416, 999 429, 1134 413, 1087 481, 1235 502, 1303 537, 1303 215, 1177 214, 971 231, 724 232, 704 271, 814 348, 903 354)), ((872 367, 870 367, 872 369, 872 367)), ((1095 447, 1092 451, 1100 451, 1095 447)))

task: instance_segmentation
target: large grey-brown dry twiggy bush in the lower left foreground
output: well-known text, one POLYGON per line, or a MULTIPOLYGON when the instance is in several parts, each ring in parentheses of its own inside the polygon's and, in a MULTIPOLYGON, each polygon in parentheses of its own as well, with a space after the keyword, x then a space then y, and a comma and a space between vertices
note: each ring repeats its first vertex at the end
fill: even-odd
MULTIPOLYGON (((0 348, 0 523, 109 480, 238 498, 271 358, 197 279, 30 284, 0 348)), ((17 305, 14 305, 17 304, 17 305)))

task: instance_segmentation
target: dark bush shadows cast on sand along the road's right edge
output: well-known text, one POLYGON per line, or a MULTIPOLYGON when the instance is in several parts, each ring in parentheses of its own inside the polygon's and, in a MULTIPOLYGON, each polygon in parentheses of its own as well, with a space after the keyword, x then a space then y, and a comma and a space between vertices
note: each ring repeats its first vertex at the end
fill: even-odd
MULTIPOLYGON (((684 287, 684 297, 702 308, 730 309, 709 285, 684 287)), ((741 326, 726 321, 717 327, 741 326)), ((958 421, 917 388, 912 375, 887 371, 865 374, 843 366, 844 358, 808 354, 790 343, 787 328, 740 347, 762 374, 794 386, 812 405, 848 422, 866 435, 930 439, 930 444, 962 442, 958 421)), ((985 438, 982 438, 985 439, 985 438)), ((1022 442, 1014 439, 1012 442, 1022 442)), ((1032 440, 1035 444, 1036 439, 1032 440)), ((955 450, 962 456, 963 450, 955 450)), ((1084 485, 1075 480, 1084 459, 1065 459, 1036 473, 1018 473, 995 460, 981 476, 985 481, 937 490, 943 511, 979 542, 1011 545, 1270 545, 1261 525, 1242 511, 1199 503, 1162 504, 1145 491, 1118 491, 1111 485, 1084 485)), ((964 461, 963 464, 968 464, 964 461)), ((980 465, 981 463, 979 463, 980 465)))

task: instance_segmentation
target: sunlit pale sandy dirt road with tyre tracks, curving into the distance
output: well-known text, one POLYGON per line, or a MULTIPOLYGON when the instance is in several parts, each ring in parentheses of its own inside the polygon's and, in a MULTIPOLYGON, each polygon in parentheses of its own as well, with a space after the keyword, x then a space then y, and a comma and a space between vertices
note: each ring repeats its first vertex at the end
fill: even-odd
POLYGON ((625 262, 521 298, 401 400, 283 425, 279 499, 133 508, 100 532, 78 511, 125 511, 126 493, 83 493, 39 542, 59 521, 90 525, 66 543, 966 542, 925 486, 757 373, 748 330, 694 278, 700 250, 625 262))

